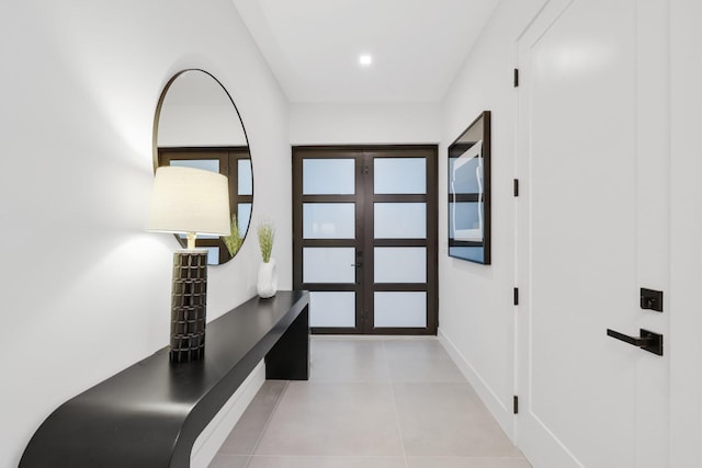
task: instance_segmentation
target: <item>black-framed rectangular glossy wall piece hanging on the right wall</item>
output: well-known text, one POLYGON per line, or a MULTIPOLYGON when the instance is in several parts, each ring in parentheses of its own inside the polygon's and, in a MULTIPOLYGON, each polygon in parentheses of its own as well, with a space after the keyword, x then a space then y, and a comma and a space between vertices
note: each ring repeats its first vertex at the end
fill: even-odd
POLYGON ((449 147, 449 255, 490 264, 490 111, 449 147))

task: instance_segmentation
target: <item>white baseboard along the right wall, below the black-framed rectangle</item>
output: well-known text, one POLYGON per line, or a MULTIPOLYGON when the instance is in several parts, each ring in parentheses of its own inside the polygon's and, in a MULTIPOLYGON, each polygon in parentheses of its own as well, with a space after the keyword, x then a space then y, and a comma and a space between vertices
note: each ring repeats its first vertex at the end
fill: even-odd
POLYGON ((514 442, 514 414, 512 408, 508 408, 502 403, 499 397, 490 389, 480 375, 473 368, 465 356, 458 351, 453 342, 446 336, 443 330, 440 328, 437 332, 439 342, 446 350, 446 353, 451 356, 456 364, 461 373, 468 380, 468 384, 473 386, 476 393, 483 400, 483 403, 487 407, 488 411, 497 420, 502 431, 507 436, 514 442))

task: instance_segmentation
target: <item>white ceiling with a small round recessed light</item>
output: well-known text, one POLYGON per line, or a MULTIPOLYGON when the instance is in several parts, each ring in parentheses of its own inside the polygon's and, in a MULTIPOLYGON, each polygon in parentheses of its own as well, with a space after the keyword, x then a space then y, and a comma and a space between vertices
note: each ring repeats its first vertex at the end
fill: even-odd
POLYGON ((440 101, 498 1, 233 0, 296 103, 440 101))

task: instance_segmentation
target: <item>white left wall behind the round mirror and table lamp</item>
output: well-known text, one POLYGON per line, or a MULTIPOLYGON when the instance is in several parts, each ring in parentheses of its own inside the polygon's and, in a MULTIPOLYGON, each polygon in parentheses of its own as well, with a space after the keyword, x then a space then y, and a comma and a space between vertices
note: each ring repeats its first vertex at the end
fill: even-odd
MULTIPOLYGON (((60 403, 168 344, 170 235, 145 232, 159 94, 184 68, 236 102, 253 226, 290 265, 287 103, 229 0, 0 4, 0 467, 60 403)), ((210 271, 208 318, 254 295, 254 236, 210 271)), ((292 285, 282 267, 281 288, 292 285)))

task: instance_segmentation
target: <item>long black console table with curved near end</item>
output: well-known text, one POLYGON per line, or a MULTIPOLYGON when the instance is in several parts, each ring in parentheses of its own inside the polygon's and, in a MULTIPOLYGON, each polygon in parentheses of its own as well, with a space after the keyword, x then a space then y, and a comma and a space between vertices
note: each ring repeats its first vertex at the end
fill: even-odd
POLYGON ((193 443, 265 357, 265 377, 306 380, 309 294, 279 292, 207 324, 205 357, 168 349, 68 400, 27 445, 20 467, 188 467, 193 443))

